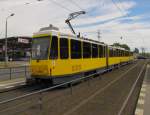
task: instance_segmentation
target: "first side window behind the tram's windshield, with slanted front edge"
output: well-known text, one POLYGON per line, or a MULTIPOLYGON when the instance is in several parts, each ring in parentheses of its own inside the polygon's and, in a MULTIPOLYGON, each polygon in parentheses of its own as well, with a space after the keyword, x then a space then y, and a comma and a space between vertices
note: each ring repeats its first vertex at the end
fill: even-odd
POLYGON ((58 58, 58 38, 53 36, 51 39, 50 59, 58 58))

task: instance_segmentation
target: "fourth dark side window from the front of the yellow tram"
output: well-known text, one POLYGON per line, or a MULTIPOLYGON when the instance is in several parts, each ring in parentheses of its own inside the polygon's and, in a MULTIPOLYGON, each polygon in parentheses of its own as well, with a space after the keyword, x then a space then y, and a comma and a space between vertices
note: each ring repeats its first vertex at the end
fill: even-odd
POLYGON ((83 42, 83 58, 91 58, 91 44, 83 42))

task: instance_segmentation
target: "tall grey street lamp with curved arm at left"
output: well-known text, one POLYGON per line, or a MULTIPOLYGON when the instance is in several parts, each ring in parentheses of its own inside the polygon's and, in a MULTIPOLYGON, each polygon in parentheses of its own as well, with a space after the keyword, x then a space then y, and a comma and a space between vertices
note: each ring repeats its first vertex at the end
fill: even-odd
POLYGON ((5 30, 5 65, 7 66, 7 62, 8 62, 8 55, 7 55, 7 20, 14 16, 15 14, 12 13, 10 14, 7 18, 6 18, 6 30, 5 30))

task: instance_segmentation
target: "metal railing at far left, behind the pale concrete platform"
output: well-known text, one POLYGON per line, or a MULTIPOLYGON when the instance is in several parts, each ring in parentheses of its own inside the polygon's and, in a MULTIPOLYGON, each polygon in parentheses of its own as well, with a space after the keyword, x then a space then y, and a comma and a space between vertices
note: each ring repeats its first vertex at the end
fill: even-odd
POLYGON ((16 78, 27 78, 30 76, 29 66, 0 68, 0 81, 16 78))

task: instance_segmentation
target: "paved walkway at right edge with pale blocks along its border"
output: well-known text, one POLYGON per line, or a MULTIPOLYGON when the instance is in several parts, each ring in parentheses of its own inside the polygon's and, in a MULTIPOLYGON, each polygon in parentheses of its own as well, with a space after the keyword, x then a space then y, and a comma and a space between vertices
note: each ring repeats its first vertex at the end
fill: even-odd
POLYGON ((135 115, 150 115, 150 65, 147 65, 135 115))

